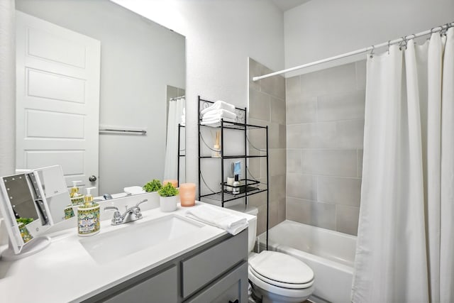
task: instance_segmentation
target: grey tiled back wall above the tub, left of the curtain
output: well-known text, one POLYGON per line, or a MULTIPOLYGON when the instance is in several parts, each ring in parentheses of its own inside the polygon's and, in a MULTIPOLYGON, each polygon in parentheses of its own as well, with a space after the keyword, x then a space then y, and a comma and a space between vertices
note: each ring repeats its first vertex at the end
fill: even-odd
POLYGON ((287 219, 356 235, 365 61, 287 78, 287 219))

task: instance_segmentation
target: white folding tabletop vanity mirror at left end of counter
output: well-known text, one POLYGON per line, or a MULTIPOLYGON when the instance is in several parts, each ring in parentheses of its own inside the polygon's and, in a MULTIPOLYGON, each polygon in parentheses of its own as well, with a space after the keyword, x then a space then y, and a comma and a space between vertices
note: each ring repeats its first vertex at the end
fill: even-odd
POLYGON ((1 177, 0 211, 9 235, 4 260, 33 255, 50 244, 43 233, 65 219, 71 204, 59 165, 1 177))

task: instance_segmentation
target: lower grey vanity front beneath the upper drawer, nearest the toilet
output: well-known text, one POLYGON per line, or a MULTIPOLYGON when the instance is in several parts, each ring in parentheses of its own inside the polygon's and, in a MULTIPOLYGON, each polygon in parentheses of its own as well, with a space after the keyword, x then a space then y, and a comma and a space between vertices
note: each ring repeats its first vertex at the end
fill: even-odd
POLYGON ((216 280, 187 303, 248 302, 248 262, 243 261, 234 270, 216 280), (238 300, 238 301, 236 301, 238 300))

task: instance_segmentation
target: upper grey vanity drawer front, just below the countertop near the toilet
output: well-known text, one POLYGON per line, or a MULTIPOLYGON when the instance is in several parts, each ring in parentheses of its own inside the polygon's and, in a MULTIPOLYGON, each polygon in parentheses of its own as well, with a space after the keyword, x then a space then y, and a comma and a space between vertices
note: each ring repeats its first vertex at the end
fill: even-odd
POLYGON ((248 230, 182 260, 182 297, 201 289, 241 260, 248 260, 248 230))

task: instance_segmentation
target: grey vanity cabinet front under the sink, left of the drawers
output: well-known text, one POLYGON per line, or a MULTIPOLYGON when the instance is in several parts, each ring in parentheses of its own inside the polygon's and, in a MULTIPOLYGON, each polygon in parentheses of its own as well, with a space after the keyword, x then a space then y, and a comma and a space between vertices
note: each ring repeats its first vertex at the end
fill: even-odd
POLYGON ((104 302, 125 303, 125 302, 156 302, 173 303, 178 301, 177 289, 177 266, 160 272, 153 277, 146 278, 137 284, 114 294, 114 297, 104 302))

